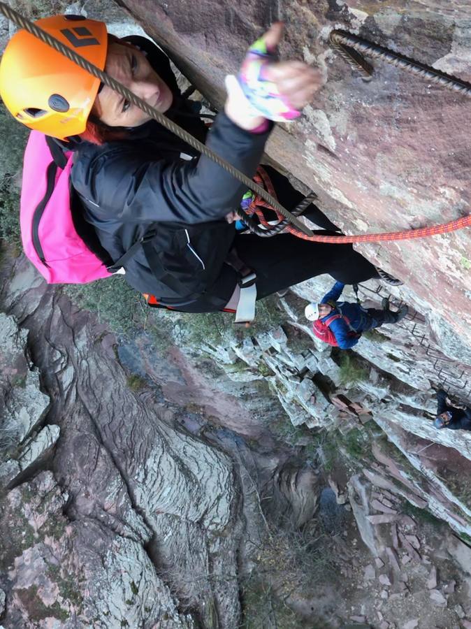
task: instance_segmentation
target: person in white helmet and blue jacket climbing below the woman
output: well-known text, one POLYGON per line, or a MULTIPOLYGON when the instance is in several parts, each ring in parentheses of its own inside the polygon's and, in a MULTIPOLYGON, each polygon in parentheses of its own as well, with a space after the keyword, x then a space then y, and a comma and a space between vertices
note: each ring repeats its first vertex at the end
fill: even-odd
POLYGON ((335 282, 321 303, 310 303, 305 308, 305 317, 310 321, 319 320, 321 324, 328 326, 341 349, 354 347, 361 338, 361 333, 384 324, 397 323, 407 315, 406 305, 397 312, 391 312, 387 298, 383 299, 382 310, 363 308, 358 303, 338 301, 344 287, 345 284, 342 282, 335 282))

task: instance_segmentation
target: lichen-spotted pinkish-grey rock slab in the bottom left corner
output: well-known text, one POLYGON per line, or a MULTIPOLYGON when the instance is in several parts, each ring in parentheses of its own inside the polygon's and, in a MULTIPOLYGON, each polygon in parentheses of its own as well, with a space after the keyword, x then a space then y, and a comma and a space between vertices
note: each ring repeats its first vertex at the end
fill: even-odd
POLYGON ((6 626, 115 628, 124 619, 131 627, 151 626, 150 619, 193 626, 177 613, 143 539, 113 533, 92 516, 70 521, 67 500, 51 472, 8 493, 0 525, 13 542, 3 562, 14 558, 6 626))

